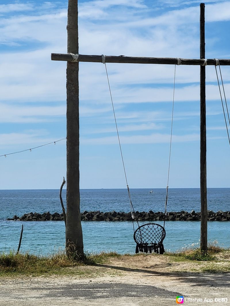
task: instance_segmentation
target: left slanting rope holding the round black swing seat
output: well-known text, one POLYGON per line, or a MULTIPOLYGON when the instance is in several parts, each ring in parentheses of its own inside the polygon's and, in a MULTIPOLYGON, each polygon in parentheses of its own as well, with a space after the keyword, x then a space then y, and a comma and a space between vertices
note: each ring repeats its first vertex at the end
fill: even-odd
MULTIPOLYGON (((105 64, 105 71, 106 71, 106 76, 107 76, 108 85, 109 85, 109 93, 110 93, 111 103, 112 103, 112 106, 113 106, 113 98, 112 98, 111 88, 110 88, 110 84, 109 84, 109 76, 108 76, 108 71, 107 71, 107 67, 106 67, 106 63, 105 63, 105 55, 103 55, 103 54, 102 54, 102 63, 105 64)), ((127 189, 128 189, 128 197, 129 197, 129 203, 130 203, 130 209, 131 209, 131 215, 132 215, 132 226, 133 226, 133 231, 135 232, 133 219, 136 219, 138 227, 139 227, 139 223, 138 223, 136 213, 135 213, 133 205, 132 205, 130 190, 129 190, 129 187, 128 187, 128 180, 127 180, 127 175, 126 175, 126 171, 125 171, 125 163, 124 163, 124 159, 123 159, 123 154, 122 154, 122 150, 121 150, 121 142, 120 142, 120 136, 119 136, 119 132, 118 132, 118 128, 117 128, 117 120, 116 120, 114 106, 113 106, 113 115, 114 115, 114 120, 115 120, 115 124, 116 124, 116 129, 117 129, 117 137, 118 137, 118 141, 119 141, 121 159, 122 159, 123 169, 124 169, 124 173, 125 173, 125 181, 126 181, 126 185, 127 185, 127 189)))

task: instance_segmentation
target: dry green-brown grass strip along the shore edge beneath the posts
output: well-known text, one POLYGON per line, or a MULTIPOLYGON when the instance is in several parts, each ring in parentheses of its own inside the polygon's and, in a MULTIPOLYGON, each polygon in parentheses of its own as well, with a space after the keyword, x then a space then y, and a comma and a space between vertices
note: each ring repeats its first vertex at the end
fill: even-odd
MULTIPOLYGON (((39 275, 75 275, 79 277, 94 277, 106 274, 116 274, 113 269, 100 267, 108 263, 112 258, 122 257, 125 259, 139 256, 159 256, 154 254, 125 254, 116 252, 88 253, 84 262, 76 260, 74 257, 67 257, 65 252, 57 252, 46 256, 36 256, 34 254, 18 253, 12 251, 8 254, 0 253, 0 276, 39 276, 39 275)), ((180 252, 165 253, 163 256, 169 257, 171 262, 194 263, 190 269, 198 269, 202 272, 224 272, 230 270, 230 250, 219 247, 217 244, 209 244, 208 252, 201 252, 200 248, 186 248, 180 252), (203 263, 204 264, 203 264, 203 263), (202 264, 201 264, 202 263, 202 264), (224 263, 224 264, 222 264, 224 263)), ((143 258, 143 257, 142 257, 143 258)), ((140 258, 141 260, 141 258, 140 258)))

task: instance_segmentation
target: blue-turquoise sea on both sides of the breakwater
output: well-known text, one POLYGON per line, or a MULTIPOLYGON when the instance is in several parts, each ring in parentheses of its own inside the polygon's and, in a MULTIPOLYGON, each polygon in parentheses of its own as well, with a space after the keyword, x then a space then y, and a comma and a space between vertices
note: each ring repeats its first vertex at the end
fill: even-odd
MULTIPOLYGON (((130 189, 135 211, 164 211, 165 189, 130 189)), ((65 203, 66 190, 62 197, 65 203)), ((81 212, 83 211, 130 211, 127 189, 81 189, 81 212)), ((230 188, 208 188, 208 209, 230 210, 230 188)), ((167 211, 200 211, 199 188, 169 189, 167 211)), ((24 213, 62 212, 58 189, 45 190, 0 190, 0 252, 17 250, 21 225, 24 231, 21 252, 34 254, 56 252, 65 246, 64 222, 20 222, 7 221, 13 215, 24 213)), ((140 225, 145 222, 140 222, 140 225)), ((163 225, 163 222, 157 222, 163 225)), ((175 251, 198 245, 200 239, 199 221, 167 221, 164 246, 175 251)), ((84 250, 86 252, 116 251, 134 253, 132 222, 82 221, 84 250)), ((230 247, 230 222, 209 221, 208 241, 218 241, 223 247, 230 247)))

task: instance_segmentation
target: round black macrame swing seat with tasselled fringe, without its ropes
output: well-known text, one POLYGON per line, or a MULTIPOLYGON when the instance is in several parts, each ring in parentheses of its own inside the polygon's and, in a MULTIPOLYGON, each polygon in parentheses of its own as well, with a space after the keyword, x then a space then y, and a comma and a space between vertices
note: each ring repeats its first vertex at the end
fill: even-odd
POLYGON ((139 226, 134 232, 133 238, 136 242, 136 253, 164 253, 163 240, 165 229, 156 223, 147 223, 139 226))

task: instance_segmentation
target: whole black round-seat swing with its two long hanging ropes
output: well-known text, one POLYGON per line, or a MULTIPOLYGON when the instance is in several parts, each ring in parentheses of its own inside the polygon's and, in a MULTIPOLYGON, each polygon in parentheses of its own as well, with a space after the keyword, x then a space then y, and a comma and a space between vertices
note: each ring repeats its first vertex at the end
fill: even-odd
MULTIPOLYGON (((108 76, 107 67, 106 67, 106 63, 105 63, 105 55, 102 55, 102 63, 105 64, 105 71, 106 71, 106 76, 107 76, 108 85, 109 85, 110 98, 111 98, 111 102, 112 102, 112 106, 113 106, 113 98, 112 98, 110 84, 109 84, 109 76, 108 76)), ((178 65, 180 65, 179 60, 178 60, 178 65)), ((125 164, 124 164, 124 159, 123 159, 122 150, 121 150, 121 142, 120 142, 120 137, 119 137, 118 128, 117 128, 117 120, 116 120, 114 106, 113 106, 113 115, 114 115, 116 129, 117 129, 117 136, 118 136, 118 142, 119 142, 120 151, 121 151, 121 159, 122 159, 122 164, 123 164, 124 173, 125 173, 126 185, 127 185, 127 189, 128 189, 128 197, 129 197, 129 203, 130 203, 130 209, 131 209, 131 215, 132 215, 132 225, 133 225, 133 232, 134 232, 133 238, 134 238, 134 241, 136 242, 136 253, 138 253, 138 252, 145 252, 145 253, 155 252, 157 254, 163 254, 165 252, 164 251, 164 246, 163 246, 163 240, 164 240, 165 235, 166 235, 164 227, 165 227, 165 216, 167 214, 167 201, 168 201, 168 182, 169 182, 171 144, 172 144, 175 75, 176 75, 176 65, 175 65, 175 69, 174 69, 174 88, 173 88, 173 106, 172 106, 172 120, 171 120, 169 166, 168 166, 168 180, 167 180, 167 187, 166 187, 166 200, 165 200, 165 213, 164 213, 164 224, 163 224, 163 226, 161 226, 157 223, 147 223, 147 224, 144 224, 144 225, 141 225, 141 226, 139 225, 138 217, 137 217, 137 215, 134 211, 134 208, 133 208, 133 205, 132 205, 132 200, 131 200, 131 195, 130 195, 130 190, 129 190, 129 187, 128 187, 128 181, 127 181, 127 176, 126 176, 126 171, 125 171, 125 164), (136 221, 137 225, 138 225, 138 228, 136 230, 134 228, 134 221, 136 221)))

